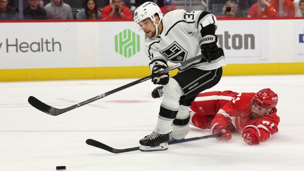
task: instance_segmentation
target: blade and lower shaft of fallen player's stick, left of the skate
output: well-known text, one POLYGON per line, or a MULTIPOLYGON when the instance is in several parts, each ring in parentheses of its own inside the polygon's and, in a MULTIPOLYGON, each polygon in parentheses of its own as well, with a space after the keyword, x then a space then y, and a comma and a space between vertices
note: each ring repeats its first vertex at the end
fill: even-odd
POLYGON ((132 151, 137 151, 139 150, 139 147, 133 147, 133 148, 125 148, 125 149, 116 149, 116 148, 112 148, 108 145, 105 145, 99 141, 96 141, 96 140, 92 140, 92 139, 87 139, 87 141, 85 141, 85 143, 87 143, 88 145, 92 145, 94 147, 97 147, 97 148, 101 148, 101 149, 104 149, 108 152, 112 152, 112 153, 115 153, 115 154, 118 154, 118 153, 123 153, 123 152, 132 152, 132 151))

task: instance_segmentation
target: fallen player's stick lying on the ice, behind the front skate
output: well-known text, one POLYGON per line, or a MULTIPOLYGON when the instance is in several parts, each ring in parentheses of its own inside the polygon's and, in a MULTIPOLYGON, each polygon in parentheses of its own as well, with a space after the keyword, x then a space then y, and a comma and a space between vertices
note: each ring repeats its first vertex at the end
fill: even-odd
MULTIPOLYGON (((219 134, 206 135, 206 136, 202 136, 202 137, 193 137, 193 138, 187 138, 187 139, 182 139, 182 140, 174 140, 174 141, 169 141, 168 145, 178 144, 178 143, 188 142, 188 141, 195 141, 195 140, 200 140, 200 139, 215 138, 215 137, 220 137, 220 136, 222 136, 222 135, 219 133, 219 134)), ((92 145, 94 147, 101 148, 101 149, 104 149, 108 152, 112 152, 115 154, 139 150, 139 147, 116 149, 116 148, 112 148, 108 145, 105 145, 99 141, 92 140, 92 139, 87 139, 87 141, 85 141, 85 142, 88 145, 92 145)))

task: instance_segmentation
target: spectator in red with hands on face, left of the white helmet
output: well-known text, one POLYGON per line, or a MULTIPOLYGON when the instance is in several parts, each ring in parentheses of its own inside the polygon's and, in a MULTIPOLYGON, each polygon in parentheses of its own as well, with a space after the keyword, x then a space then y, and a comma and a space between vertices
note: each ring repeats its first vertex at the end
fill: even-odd
POLYGON ((131 10, 123 5, 122 0, 112 0, 110 5, 102 9, 102 19, 133 19, 131 10))

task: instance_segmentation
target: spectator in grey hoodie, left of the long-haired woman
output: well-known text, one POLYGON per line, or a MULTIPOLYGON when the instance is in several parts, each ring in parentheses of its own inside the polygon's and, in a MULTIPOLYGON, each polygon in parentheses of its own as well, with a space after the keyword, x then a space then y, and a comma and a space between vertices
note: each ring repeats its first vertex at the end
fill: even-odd
POLYGON ((63 0, 51 0, 44 9, 49 19, 73 19, 70 5, 64 3, 63 0))

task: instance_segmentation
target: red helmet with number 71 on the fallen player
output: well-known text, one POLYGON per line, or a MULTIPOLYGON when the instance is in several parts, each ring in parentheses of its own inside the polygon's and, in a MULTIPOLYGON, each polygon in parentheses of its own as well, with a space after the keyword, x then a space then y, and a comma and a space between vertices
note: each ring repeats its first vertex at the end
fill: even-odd
POLYGON ((255 94, 252 102, 266 109, 271 109, 277 105, 278 95, 271 89, 262 89, 255 94))

